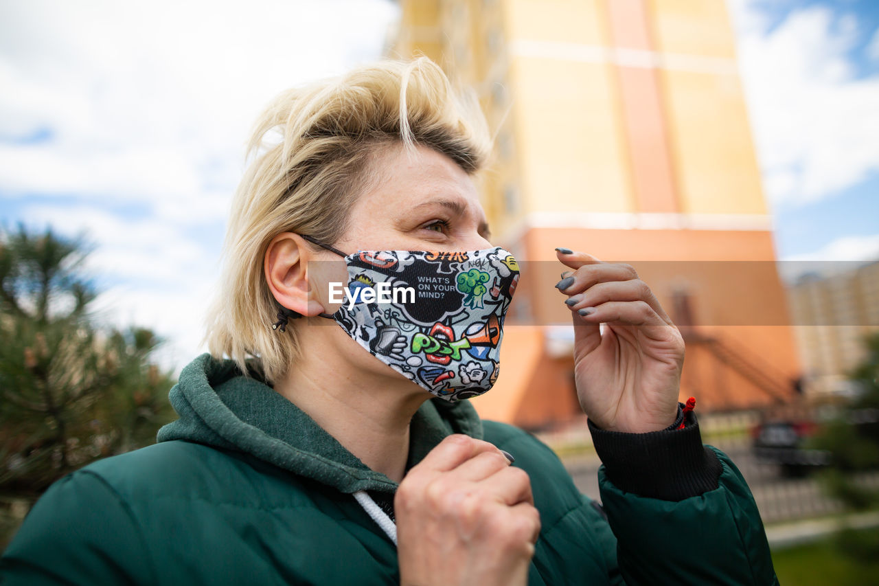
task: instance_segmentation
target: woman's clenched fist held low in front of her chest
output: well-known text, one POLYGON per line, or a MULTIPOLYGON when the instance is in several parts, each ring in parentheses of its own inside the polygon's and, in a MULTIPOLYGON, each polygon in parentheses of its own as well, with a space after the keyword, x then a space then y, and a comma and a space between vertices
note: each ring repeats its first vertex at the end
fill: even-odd
POLYGON ((448 436, 403 478, 394 509, 405 586, 527 582, 540 515, 527 472, 494 445, 448 436))

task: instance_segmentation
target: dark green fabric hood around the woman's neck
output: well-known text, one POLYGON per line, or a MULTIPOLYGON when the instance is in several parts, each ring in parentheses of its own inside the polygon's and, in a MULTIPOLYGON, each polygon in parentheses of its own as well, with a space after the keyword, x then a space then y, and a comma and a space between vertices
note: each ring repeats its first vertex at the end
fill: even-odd
MULTIPOLYGON (((397 483, 374 472, 308 414, 231 360, 200 355, 181 372, 169 393, 179 419, 163 426, 156 442, 186 440, 237 450, 343 493, 393 493, 397 483)), ((410 423, 407 470, 453 433, 483 437, 469 401, 426 400, 410 423)))

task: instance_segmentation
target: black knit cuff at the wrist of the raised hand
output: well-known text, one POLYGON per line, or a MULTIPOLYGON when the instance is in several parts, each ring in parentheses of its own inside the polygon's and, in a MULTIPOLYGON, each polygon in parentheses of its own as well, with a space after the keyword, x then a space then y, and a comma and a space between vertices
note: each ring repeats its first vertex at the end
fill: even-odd
POLYGON ((683 501, 714 490, 723 466, 702 445, 699 422, 690 411, 661 431, 628 434, 606 431, 588 421, 595 451, 607 478, 622 491, 663 501, 683 501), (684 429, 677 429, 684 421, 684 429))

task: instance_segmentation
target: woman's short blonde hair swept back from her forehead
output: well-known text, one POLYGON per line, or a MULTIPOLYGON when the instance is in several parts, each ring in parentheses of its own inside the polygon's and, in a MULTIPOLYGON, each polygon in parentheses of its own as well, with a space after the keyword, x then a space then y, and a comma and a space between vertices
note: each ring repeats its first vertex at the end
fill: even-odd
POLYGON ((232 201, 222 278, 208 312, 207 347, 272 384, 300 351, 294 328, 272 330, 278 302, 263 259, 281 232, 334 243, 354 201, 382 177, 383 152, 423 145, 471 175, 491 140, 472 90, 453 89, 426 57, 385 60, 341 77, 283 92, 259 117, 248 146, 254 157, 232 201), (269 145, 270 133, 280 142, 269 145), (255 359, 255 360, 250 360, 255 359))

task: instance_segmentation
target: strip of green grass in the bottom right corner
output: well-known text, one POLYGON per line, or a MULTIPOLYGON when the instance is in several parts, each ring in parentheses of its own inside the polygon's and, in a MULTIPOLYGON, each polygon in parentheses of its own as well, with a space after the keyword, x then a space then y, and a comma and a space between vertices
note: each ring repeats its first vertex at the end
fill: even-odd
MULTIPOLYGON (((850 535, 875 541, 877 530, 863 529, 850 535)), ((802 546, 793 546, 772 555, 775 574, 783 586, 811 584, 879 584, 879 560, 859 563, 840 551, 838 538, 829 536, 802 546)))

